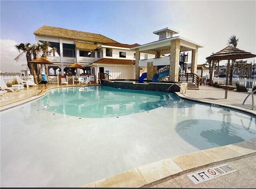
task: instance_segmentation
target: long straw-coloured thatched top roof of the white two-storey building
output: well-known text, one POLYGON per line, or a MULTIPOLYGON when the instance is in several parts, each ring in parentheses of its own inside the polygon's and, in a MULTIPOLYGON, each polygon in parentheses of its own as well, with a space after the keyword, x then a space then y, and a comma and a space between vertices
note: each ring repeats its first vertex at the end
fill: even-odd
POLYGON ((89 32, 81 32, 76 30, 69 30, 65 28, 57 28, 52 26, 42 26, 34 32, 35 35, 50 36, 55 38, 66 38, 70 40, 82 40, 96 43, 118 43, 110 38, 102 36, 101 34, 94 34, 89 32))

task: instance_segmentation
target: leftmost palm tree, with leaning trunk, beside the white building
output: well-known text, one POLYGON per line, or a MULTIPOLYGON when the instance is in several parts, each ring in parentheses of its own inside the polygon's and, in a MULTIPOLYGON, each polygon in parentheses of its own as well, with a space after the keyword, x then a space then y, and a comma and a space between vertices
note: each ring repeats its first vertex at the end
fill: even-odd
POLYGON ((15 45, 16 49, 20 52, 20 54, 14 59, 16 62, 20 60, 20 58, 26 54, 26 59, 27 59, 27 65, 28 68, 30 69, 30 72, 34 76, 34 82, 35 84, 38 84, 37 79, 36 79, 36 73, 34 71, 34 65, 30 64, 30 61, 32 60, 31 54, 32 54, 32 46, 30 43, 20 43, 18 45, 15 45))

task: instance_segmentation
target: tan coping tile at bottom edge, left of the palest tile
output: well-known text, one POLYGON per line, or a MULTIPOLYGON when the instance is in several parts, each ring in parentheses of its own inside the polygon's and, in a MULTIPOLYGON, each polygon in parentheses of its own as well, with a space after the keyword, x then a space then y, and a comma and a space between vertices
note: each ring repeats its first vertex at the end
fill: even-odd
POLYGON ((145 184, 137 168, 95 182, 96 187, 141 187, 145 184))

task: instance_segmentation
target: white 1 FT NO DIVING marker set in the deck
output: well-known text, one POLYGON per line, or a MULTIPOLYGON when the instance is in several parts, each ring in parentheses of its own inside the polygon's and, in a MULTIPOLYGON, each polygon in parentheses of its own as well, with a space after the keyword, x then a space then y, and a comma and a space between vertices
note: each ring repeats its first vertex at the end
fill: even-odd
POLYGON ((235 171, 237 170, 226 163, 206 170, 198 171, 187 176, 193 183, 198 184, 204 181, 220 177, 222 175, 233 173, 235 171))

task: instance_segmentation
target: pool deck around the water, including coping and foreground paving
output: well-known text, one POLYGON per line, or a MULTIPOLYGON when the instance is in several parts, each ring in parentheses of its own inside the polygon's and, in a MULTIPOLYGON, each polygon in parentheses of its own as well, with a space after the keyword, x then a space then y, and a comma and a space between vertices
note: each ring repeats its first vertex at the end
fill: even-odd
MULTIPOLYGON (((48 85, 48 89, 64 86, 66 85, 48 85)), ((7 92, 0 97, 0 111, 26 103, 45 93, 46 90, 41 90, 41 86, 30 87, 29 90, 24 89, 20 92, 7 92)), ((200 86, 200 90, 187 90, 186 94, 177 94, 182 98, 232 107, 256 115, 255 109, 251 109, 251 97, 242 105, 249 93, 228 91, 228 98, 225 99, 223 89, 200 86)), ((255 188, 255 175, 256 141, 252 140, 170 157, 100 181, 85 183, 83 187, 255 188), (194 184, 186 176, 224 163, 228 163, 237 171, 198 184, 194 184)))

